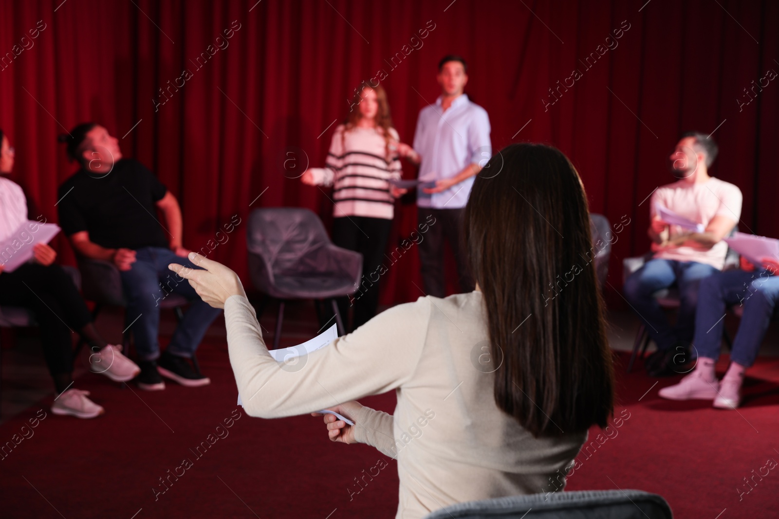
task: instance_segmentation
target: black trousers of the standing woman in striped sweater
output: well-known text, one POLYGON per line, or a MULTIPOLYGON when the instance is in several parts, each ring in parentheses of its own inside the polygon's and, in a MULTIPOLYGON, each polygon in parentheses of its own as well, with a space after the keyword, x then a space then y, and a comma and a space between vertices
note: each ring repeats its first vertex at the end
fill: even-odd
POLYGON ((352 331, 375 316, 379 307, 379 282, 370 282, 379 275, 387 239, 390 237, 392 220, 349 216, 333 219, 333 244, 362 254, 362 275, 360 288, 354 293, 354 323, 347 324, 349 299, 339 298, 338 310, 344 319, 344 328, 352 331))

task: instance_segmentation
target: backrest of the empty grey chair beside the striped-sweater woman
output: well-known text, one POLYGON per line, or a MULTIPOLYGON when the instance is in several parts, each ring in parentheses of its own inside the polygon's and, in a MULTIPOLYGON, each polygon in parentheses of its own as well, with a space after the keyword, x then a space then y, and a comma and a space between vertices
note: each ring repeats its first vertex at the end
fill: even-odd
POLYGON ((312 272, 315 265, 301 268, 301 259, 330 243, 322 220, 311 209, 272 207, 255 209, 249 215, 249 253, 261 256, 273 275, 312 272))

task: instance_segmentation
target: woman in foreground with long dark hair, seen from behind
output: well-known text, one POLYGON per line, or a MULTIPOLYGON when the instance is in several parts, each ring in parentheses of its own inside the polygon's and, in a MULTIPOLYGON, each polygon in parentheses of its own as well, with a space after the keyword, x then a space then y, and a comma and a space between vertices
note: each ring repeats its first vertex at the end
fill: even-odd
MULTIPOLYGON (((555 273, 590 251, 579 175, 548 146, 514 144, 493 160, 504 161, 501 174, 477 175, 464 212, 477 289, 385 310, 294 370, 270 356, 235 272, 195 253, 190 259, 205 270, 170 266, 203 300, 224 307, 244 411, 275 418, 330 407, 353 420, 326 415, 328 436, 397 459, 396 517, 538 493, 553 478, 562 489, 587 430, 605 427, 613 413, 594 265, 551 302, 543 298, 555 273), (393 389, 393 415, 353 400, 393 389)), ((499 168, 493 160, 485 170, 499 168)))

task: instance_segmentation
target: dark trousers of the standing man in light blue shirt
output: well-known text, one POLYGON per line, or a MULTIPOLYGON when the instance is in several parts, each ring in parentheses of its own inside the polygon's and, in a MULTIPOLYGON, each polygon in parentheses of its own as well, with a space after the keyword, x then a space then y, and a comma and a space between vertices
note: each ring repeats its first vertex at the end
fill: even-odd
POLYGON ((428 296, 446 296, 446 282, 444 279, 444 240, 449 242, 454 252, 454 261, 457 265, 457 277, 460 283, 460 291, 466 293, 474 289, 474 281, 471 269, 467 264, 464 238, 462 233, 464 208, 460 209, 432 209, 419 207, 417 219, 420 228, 427 224, 428 232, 425 239, 419 244, 419 261, 422 269, 422 282, 425 284, 425 292, 428 296))

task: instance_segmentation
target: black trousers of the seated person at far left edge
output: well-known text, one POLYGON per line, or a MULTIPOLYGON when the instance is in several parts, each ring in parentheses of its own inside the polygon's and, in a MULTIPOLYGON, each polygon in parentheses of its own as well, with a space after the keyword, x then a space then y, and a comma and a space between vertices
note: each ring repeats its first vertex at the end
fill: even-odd
POLYGON ((41 342, 49 373, 71 373, 71 331, 92 322, 72 278, 59 265, 25 263, 0 274, 0 304, 33 310, 41 328, 41 342))

